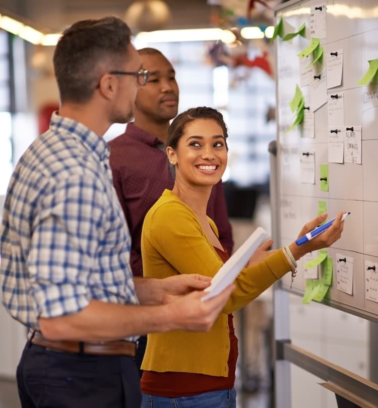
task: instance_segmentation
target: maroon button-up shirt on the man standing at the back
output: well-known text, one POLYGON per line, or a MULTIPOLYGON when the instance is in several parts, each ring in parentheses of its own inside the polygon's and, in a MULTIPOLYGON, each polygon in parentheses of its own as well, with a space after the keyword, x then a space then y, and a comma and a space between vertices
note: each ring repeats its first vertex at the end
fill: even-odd
MULTIPOLYGON (((141 235, 144 218, 164 189, 171 190, 174 184, 161 145, 157 137, 133 123, 128 124, 125 133, 109 142, 114 187, 132 237, 130 265, 135 276, 143 275, 141 235)), ((221 181, 213 187, 207 214, 214 220, 219 240, 230 254, 232 230, 221 181)))

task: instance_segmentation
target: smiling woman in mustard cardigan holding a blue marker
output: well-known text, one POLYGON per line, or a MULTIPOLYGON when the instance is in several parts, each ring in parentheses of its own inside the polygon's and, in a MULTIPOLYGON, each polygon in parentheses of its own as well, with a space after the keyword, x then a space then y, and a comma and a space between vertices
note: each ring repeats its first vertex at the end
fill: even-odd
MULTIPOLYGON (((189 109, 168 130, 166 151, 175 169, 172 190, 164 190, 147 213, 142 230, 143 274, 164 278, 196 271, 213 277, 229 254, 218 238, 214 221, 206 215, 212 187, 227 165, 227 128, 222 115, 211 108, 189 109)), ((307 223, 300 234, 324 221, 307 223)), ((142 408, 196 406, 235 408, 234 389, 237 338, 232 312, 255 299, 291 271, 304 253, 332 244, 340 237, 342 222, 322 242, 295 241, 268 251, 266 241, 235 280, 236 289, 207 333, 173 331, 149 334, 142 363, 142 408), (172 401, 174 399, 174 401, 172 401)), ((314 238, 317 239, 317 238, 314 238)), ((319 239, 319 237, 318 237, 319 239)))

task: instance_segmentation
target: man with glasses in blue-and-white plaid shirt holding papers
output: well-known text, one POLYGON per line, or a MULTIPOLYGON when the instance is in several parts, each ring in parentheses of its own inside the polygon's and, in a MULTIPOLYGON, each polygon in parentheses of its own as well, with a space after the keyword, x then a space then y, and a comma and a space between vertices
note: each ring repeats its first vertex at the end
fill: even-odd
POLYGON ((3 303, 29 328, 21 405, 138 407, 138 336, 209 330, 233 286, 202 301, 209 280, 199 275, 133 279, 102 139, 131 119, 148 78, 129 27, 115 17, 72 25, 54 70, 59 112, 16 165, 0 230, 3 303))

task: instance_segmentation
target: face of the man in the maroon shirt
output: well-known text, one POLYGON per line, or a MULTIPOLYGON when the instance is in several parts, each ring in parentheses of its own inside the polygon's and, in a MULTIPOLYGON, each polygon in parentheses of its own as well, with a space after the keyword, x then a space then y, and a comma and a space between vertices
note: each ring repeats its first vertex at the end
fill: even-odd
POLYGON ((157 123, 177 115, 178 85, 170 62, 160 54, 141 55, 142 66, 150 72, 145 86, 138 89, 134 116, 157 123))

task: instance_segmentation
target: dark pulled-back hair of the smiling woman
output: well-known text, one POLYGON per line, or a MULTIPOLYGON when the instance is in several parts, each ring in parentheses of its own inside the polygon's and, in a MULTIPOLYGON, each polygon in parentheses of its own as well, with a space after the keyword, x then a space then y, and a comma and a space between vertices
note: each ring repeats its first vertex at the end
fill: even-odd
POLYGON ((183 135, 186 125, 196 119, 212 119, 217 122, 223 130, 223 136, 225 139, 226 148, 228 150, 226 141, 228 137, 228 131, 227 126, 223 120, 223 115, 216 109, 208 108, 206 106, 191 108, 176 116, 176 118, 169 126, 166 146, 170 146, 174 150, 176 150, 177 143, 183 135))

